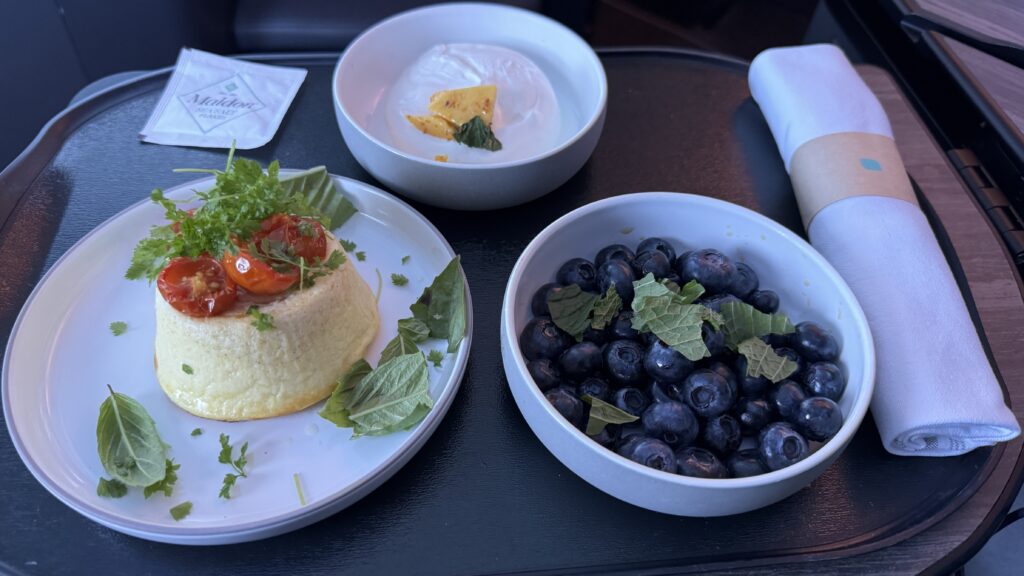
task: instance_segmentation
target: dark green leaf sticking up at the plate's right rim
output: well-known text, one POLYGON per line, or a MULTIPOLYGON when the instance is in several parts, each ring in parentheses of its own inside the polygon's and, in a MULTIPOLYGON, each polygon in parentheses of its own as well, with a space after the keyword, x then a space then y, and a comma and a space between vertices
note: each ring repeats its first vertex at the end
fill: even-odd
POLYGON ((459 348, 466 335, 466 285, 460 260, 453 258, 409 306, 413 317, 430 328, 431 336, 447 339, 450 353, 459 348))

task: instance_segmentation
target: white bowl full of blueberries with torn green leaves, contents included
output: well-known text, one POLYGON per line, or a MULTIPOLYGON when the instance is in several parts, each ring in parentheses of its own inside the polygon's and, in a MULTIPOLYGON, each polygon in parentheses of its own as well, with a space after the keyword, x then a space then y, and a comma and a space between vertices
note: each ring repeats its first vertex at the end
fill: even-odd
POLYGON ((579 208, 516 262, 502 357, 526 422, 598 489, 666 513, 777 502, 843 452, 874 348, 839 274, 775 221, 641 193, 579 208))

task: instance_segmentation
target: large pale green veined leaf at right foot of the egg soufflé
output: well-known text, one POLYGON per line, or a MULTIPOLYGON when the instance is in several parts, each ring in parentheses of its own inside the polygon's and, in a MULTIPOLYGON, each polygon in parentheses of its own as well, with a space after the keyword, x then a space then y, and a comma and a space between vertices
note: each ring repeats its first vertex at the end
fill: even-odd
POLYGON ((370 372, 355 384, 346 407, 354 423, 352 436, 357 438, 410 427, 432 406, 427 359, 418 352, 393 358, 370 372))

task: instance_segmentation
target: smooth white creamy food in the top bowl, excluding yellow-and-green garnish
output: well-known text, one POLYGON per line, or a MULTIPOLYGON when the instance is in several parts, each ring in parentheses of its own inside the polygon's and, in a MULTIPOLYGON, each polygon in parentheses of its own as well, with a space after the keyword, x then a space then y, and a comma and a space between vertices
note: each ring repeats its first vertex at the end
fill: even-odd
POLYGON ((544 72, 519 52, 489 44, 430 48, 391 86, 383 112, 395 148, 429 160, 446 155, 449 162, 465 164, 511 162, 542 154, 558 145, 562 125, 555 91, 544 72), (490 127, 502 150, 490 152, 430 136, 406 119, 406 115, 429 115, 427 105, 435 92, 484 84, 498 86, 490 127))

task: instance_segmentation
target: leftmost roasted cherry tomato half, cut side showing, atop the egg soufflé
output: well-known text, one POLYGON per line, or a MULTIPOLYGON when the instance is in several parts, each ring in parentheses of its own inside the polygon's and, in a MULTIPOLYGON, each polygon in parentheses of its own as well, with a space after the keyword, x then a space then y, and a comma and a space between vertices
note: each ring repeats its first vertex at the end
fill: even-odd
POLYGON ((157 277, 157 288, 174 310, 200 318, 217 316, 238 299, 234 282, 210 256, 172 259, 157 277))

